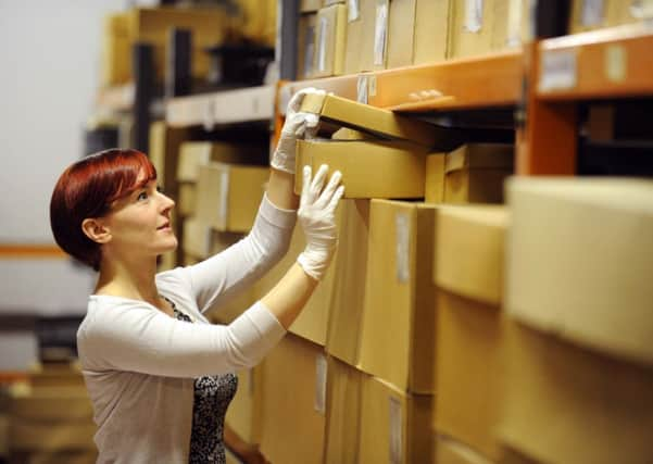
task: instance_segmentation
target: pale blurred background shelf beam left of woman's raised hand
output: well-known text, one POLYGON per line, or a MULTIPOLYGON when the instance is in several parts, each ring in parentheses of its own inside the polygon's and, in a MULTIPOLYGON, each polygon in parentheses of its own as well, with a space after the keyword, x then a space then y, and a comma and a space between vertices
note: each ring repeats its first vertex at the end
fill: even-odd
POLYGON ((276 86, 260 86, 214 93, 179 97, 166 103, 165 120, 171 127, 271 121, 276 86))

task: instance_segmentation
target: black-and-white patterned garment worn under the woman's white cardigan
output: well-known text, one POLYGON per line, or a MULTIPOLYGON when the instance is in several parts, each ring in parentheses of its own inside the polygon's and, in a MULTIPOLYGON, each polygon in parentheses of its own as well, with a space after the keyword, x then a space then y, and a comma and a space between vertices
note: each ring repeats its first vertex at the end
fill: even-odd
MULTIPOLYGON (((192 323, 192 319, 169 303, 179 321, 192 323)), ((238 377, 235 374, 203 376, 194 380, 194 400, 192 404, 192 430, 190 434, 190 464, 225 464, 225 443, 223 439, 225 414, 236 394, 238 377)))

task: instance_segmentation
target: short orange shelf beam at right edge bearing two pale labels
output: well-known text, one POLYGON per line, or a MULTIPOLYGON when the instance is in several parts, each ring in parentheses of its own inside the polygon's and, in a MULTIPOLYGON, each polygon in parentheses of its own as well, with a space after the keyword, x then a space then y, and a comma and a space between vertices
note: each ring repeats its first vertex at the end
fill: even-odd
POLYGON ((542 40, 537 98, 653 96, 653 28, 644 23, 542 40))

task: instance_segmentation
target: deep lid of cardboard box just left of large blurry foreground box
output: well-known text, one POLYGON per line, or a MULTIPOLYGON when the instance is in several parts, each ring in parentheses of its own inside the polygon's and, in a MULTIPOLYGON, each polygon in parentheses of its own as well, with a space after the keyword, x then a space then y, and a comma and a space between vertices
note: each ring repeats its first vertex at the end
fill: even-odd
POLYGON ((506 208, 442 206, 434 255, 434 281, 460 296, 500 305, 503 300, 506 208))

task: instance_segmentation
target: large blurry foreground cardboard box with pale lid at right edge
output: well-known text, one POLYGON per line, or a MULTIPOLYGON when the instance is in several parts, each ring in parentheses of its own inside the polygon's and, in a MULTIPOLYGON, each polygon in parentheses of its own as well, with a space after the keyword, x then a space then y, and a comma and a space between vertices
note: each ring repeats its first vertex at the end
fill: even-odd
POLYGON ((653 184, 507 187, 502 439, 541 462, 646 462, 653 427, 653 184))

